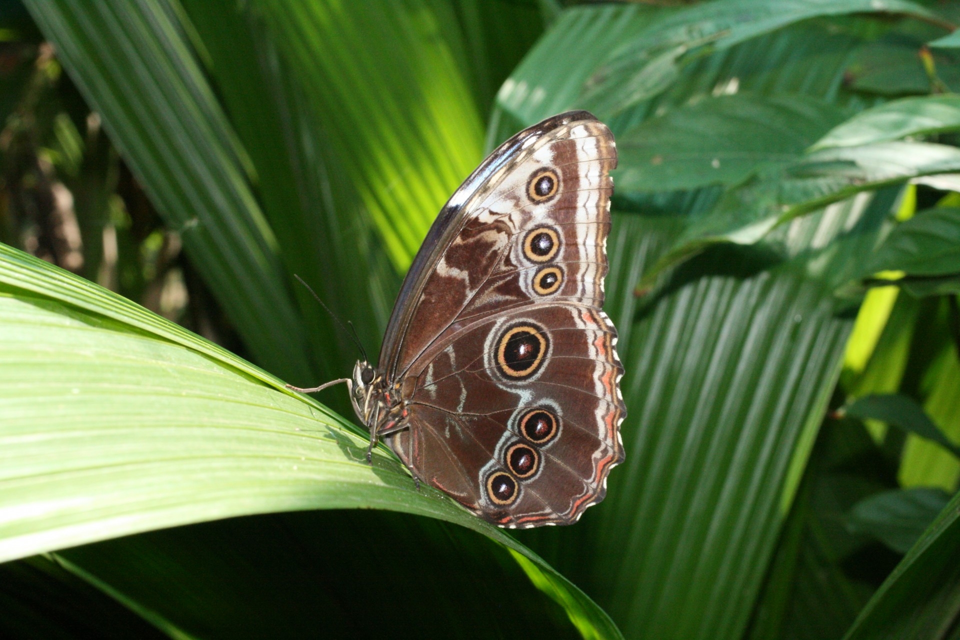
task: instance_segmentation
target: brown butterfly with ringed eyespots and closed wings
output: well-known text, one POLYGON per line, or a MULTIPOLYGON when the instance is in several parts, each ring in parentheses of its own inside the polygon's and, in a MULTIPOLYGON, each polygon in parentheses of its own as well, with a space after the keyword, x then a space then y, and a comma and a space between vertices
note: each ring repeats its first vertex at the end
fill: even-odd
POLYGON ((371 449, 501 527, 576 522, 623 462, 616 329, 601 311, 611 131, 568 111, 514 135, 430 227, 379 366, 346 382, 371 449))

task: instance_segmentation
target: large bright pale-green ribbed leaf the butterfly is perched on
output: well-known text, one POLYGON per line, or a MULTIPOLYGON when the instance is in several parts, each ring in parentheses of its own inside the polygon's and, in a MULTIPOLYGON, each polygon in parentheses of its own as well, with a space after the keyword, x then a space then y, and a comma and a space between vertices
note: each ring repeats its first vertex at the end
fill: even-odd
POLYGON ((242 514, 397 510, 527 557, 581 627, 617 637, 579 589, 393 455, 368 465, 356 427, 131 302, 0 246, 0 326, 0 558, 242 514))

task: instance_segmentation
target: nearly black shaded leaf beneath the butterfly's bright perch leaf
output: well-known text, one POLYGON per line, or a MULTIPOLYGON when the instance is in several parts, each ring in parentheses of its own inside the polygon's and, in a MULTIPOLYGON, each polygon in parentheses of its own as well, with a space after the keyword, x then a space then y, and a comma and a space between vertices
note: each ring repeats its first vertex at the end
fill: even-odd
MULTIPOLYGON (((391 637, 400 627, 424 638, 506 638, 517 628, 538 638, 581 637, 505 549, 460 527, 397 513, 258 515, 58 555, 208 640, 391 637), (389 594, 376 598, 375 615, 374 583, 389 594)), ((540 579, 556 588, 549 576, 540 579)), ((578 622, 584 637, 617 637, 588 618, 578 622)))

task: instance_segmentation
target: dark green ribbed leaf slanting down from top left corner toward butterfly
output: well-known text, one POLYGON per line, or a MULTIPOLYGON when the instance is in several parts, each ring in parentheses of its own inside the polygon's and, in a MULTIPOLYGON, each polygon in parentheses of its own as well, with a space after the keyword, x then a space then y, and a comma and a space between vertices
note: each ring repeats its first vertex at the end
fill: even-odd
POLYGON ((303 357, 307 332, 247 181, 246 157, 174 6, 26 4, 257 361, 277 374, 313 377, 303 357))

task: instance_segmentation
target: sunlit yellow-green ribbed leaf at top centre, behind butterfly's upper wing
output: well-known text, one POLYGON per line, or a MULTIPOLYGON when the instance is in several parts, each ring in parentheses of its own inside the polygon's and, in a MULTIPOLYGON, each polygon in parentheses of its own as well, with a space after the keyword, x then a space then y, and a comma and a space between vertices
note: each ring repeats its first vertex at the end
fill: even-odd
POLYGON ((468 76, 442 39, 455 16, 432 7, 252 3, 400 273, 483 153, 468 76))

